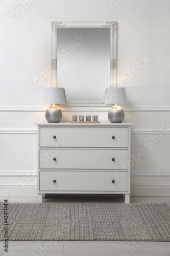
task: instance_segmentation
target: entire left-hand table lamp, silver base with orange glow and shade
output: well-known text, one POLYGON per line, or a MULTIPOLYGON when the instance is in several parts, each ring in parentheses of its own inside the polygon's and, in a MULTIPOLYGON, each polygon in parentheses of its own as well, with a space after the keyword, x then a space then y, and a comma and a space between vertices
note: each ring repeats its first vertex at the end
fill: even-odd
POLYGON ((46 110, 45 118, 48 122, 60 122, 62 112, 58 104, 64 104, 66 101, 64 88, 46 87, 44 91, 43 103, 51 103, 46 110))

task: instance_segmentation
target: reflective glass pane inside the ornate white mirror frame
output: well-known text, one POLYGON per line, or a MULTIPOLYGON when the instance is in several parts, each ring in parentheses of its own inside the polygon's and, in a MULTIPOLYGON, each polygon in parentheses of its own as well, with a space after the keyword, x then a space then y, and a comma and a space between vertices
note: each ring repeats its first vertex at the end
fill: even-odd
POLYGON ((68 101, 99 101, 110 87, 110 28, 58 28, 57 83, 68 101))

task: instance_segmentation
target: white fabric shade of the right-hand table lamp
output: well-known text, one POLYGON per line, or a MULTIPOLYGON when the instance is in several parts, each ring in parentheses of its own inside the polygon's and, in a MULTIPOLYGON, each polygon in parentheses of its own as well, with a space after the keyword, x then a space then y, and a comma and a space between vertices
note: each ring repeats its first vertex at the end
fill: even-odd
POLYGON ((109 87, 105 92, 106 104, 127 103, 126 90, 123 87, 109 87))

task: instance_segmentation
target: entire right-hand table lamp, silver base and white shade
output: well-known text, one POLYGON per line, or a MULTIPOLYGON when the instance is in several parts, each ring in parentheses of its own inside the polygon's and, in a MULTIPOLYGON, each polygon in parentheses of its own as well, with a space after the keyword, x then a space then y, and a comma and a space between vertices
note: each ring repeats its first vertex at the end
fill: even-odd
POLYGON ((105 92, 105 104, 114 104, 108 112, 111 123, 119 123, 124 120, 125 114, 119 103, 127 103, 125 88, 110 87, 105 92))

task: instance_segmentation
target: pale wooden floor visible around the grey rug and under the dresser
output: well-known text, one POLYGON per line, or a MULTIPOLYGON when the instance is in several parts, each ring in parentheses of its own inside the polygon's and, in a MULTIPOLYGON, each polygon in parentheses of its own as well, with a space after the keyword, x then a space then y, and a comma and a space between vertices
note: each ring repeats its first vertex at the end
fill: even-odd
MULTIPOLYGON (((4 198, 0 197, 0 202, 4 198)), ((166 203, 170 197, 131 197, 131 203, 166 203)), ((37 203, 37 197, 9 197, 9 203, 37 203)), ((113 196, 49 196, 43 203, 57 202, 114 202, 122 203, 124 198, 113 196)), ((8 242, 8 253, 0 242, 0 256, 170 256, 170 242, 8 242)))

